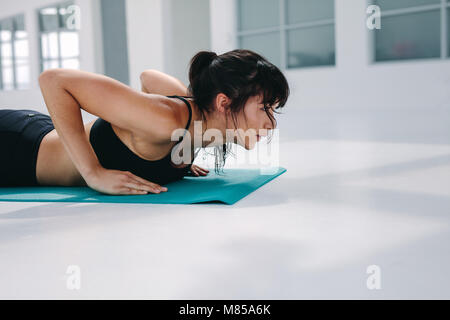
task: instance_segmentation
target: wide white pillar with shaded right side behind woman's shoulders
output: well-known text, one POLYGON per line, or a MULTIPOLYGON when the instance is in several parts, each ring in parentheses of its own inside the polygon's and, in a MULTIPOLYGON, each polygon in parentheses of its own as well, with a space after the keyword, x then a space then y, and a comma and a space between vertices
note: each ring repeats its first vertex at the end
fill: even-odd
POLYGON ((130 86, 157 69, 188 84, 189 60, 210 50, 209 0, 127 0, 130 86))

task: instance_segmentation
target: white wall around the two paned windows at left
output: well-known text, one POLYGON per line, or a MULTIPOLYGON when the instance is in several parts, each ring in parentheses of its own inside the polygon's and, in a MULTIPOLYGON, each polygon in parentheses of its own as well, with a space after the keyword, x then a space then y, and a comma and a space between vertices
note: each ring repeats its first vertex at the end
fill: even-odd
MULTIPOLYGON (((80 35, 80 68, 90 72, 103 72, 103 52, 101 42, 100 3, 98 0, 75 0, 81 9, 80 35)), ((25 27, 28 31, 30 50, 30 89, 2 91, 0 90, 0 108, 31 108, 46 113, 38 77, 39 67, 39 26, 36 10, 38 8, 59 3, 55 0, 14 0, 1 1, 0 19, 16 14, 25 14, 25 27)), ((83 118, 89 121, 93 116, 84 112, 83 118)))

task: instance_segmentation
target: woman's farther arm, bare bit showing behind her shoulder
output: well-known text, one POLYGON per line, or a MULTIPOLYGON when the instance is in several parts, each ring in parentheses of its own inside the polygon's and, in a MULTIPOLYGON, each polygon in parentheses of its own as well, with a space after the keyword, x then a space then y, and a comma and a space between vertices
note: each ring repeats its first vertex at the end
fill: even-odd
POLYGON ((141 73, 140 79, 142 92, 145 93, 155 93, 164 96, 186 96, 188 94, 183 82, 158 70, 145 70, 141 73))

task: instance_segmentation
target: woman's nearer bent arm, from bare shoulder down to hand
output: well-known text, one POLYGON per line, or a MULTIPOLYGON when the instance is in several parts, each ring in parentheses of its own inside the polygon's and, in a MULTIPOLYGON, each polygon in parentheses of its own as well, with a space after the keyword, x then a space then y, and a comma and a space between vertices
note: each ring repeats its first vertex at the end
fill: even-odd
MULTIPOLYGON (((172 130, 178 127, 173 111, 161 96, 134 91, 106 76, 79 70, 51 69, 40 75, 39 84, 53 124, 70 158, 87 183, 91 176, 94 177, 92 184, 97 186, 96 190, 102 189, 99 191, 124 192, 117 189, 117 183, 106 186, 106 182, 95 179, 99 172, 105 178, 105 172, 101 170, 103 168, 86 137, 80 108, 118 127, 161 141, 170 140, 172 130), (151 119, 158 120, 150 125, 151 119)), ((129 173, 127 175, 131 177, 129 173)), ((108 178, 112 183, 118 177, 110 175, 108 178)), ((133 181, 142 184, 145 180, 135 176, 133 181)), ((126 183, 136 185, 130 181, 126 183)), ((154 186, 148 181, 146 183, 154 186)))

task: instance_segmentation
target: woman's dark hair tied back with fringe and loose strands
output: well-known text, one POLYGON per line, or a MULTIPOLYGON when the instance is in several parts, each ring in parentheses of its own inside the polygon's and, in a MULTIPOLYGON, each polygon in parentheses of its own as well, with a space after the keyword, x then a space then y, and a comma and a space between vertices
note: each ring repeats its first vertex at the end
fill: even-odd
MULTIPOLYGON (((283 108, 290 92, 286 78, 275 65, 258 53, 244 49, 221 55, 211 51, 198 52, 190 61, 188 91, 204 121, 205 113, 214 112, 217 94, 225 94, 231 100, 228 107, 235 127, 236 115, 244 109, 247 100, 262 95, 261 103, 273 128, 276 120, 269 112, 270 106, 277 104, 275 109, 283 108)), ((226 142, 222 147, 214 148, 216 173, 225 165, 231 145, 231 142, 226 142)))

